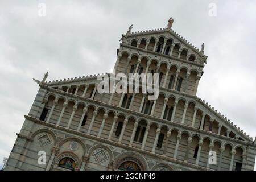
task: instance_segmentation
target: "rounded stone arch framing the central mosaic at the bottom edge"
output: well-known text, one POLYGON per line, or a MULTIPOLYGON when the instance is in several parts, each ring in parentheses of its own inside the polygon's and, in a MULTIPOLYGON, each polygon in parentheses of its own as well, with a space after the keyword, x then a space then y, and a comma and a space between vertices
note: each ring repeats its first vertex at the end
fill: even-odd
POLYGON ((123 162, 133 160, 141 168, 141 171, 148 171, 149 166, 143 155, 135 151, 125 151, 115 157, 114 168, 118 169, 123 162))

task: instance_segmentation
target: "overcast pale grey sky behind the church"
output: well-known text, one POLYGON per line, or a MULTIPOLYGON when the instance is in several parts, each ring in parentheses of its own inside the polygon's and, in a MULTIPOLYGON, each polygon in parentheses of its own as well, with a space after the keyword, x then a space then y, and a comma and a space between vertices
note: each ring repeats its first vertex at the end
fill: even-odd
MULTIPOLYGON (((121 34, 173 29, 208 56, 197 96, 256 135, 256 2, 0 1, 0 167, 38 92, 32 78, 59 80, 114 67, 121 34), (38 5, 46 5, 46 16, 38 5), (209 5, 216 16, 209 16, 209 5)), ((214 15, 211 14, 211 15, 214 15)))

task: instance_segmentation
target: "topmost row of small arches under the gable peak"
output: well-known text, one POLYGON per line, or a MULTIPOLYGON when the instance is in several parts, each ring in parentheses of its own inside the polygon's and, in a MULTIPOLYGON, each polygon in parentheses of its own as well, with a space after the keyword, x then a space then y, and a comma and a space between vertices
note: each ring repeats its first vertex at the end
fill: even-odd
POLYGON ((174 43, 173 39, 166 39, 163 36, 160 36, 159 39, 150 38, 149 41, 146 38, 141 38, 140 40, 133 39, 131 40, 131 46, 192 62, 196 60, 195 54, 189 54, 187 48, 181 48, 180 43, 174 43))

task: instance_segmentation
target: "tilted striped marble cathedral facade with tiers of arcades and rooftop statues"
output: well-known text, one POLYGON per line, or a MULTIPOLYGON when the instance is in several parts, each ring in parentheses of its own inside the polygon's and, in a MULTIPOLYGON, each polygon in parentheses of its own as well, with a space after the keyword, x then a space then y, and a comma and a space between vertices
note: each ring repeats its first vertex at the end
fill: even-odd
POLYGON ((100 94, 98 75, 45 77, 4 170, 253 170, 255 140, 196 96, 204 45, 197 49, 172 22, 130 27, 114 65, 115 74, 158 73, 157 99, 100 94))

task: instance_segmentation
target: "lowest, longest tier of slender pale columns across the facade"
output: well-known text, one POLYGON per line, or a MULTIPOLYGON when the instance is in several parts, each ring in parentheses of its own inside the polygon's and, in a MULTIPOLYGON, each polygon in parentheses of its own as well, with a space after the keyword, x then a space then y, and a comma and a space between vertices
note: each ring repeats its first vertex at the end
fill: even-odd
MULTIPOLYGON (((53 112, 53 109, 55 108, 55 105, 56 105, 57 101, 55 100, 53 102, 53 106, 52 106, 52 109, 51 109, 51 112, 50 114, 53 112)), ((60 125, 60 121, 61 121, 61 118, 63 117, 63 113, 64 113, 64 110, 65 108, 67 107, 67 103, 64 103, 64 106, 63 106, 63 109, 61 110, 61 113, 60 113, 60 116, 59 116, 59 119, 58 119, 58 122, 56 125, 60 125)), ((67 128, 69 129, 69 127, 71 126, 71 122, 72 122, 72 119, 73 119, 73 116, 75 114, 75 111, 77 109, 77 106, 73 106, 73 111, 72 111, 72 114, 71 114, 71 117, 69 118, 69 122, 68 122, 68 125, 67 125, 67 128)), ((196 109, 195 109, 196 110, 196 109)), ((80 122, 79 122, 79 126, 77 127, 77 131, 80 131, 81 129, 81 125, 82 125, 82 120, 85 116, 85 114, 87 113, 88 111, 88 108, 84 108, 83 109, 83 112, 82 112, 82 117, 80 119, 80 122)), ((92 131, 92 127, 93 127, 93 124, 94 124, 94 121, 95 121, 95 118, 98 114, 98 111, 94 110, 93 111, 93 117, 92 117, 92 120, 90 121, 90 125, 88 127, 88 130, 87 130, 87 133, 86 134, 91 134, 91 131, 92 131)), ((48 116, 48 119, 46 122, 49 122, 49 119, 51 118, 51 115, 48 116)), ((205 118, 205 114, 203 114, 203 118, 205 118)), ((202 118, 202 122, 204 121, 204 119, 202 118)), ((104 125, 105 125, 105 121, 106 119, 108 119, 108 114, 104 114, 103 115, 103 119, 102 119, 102 122, 101 122, 101 126, 100 126, 100 130, 98 131, 98 134, 97 134, 97 137, 101 137, 101 134, 102 134, 102 130, 104 129, 104 125)), ((114 128, 115 128, 115 125, 117 124, 117 119, 118 117, 115 115, 114 118, 113 118, 113 123, 112 123, 112 127, 110 129, 110 133, 109 133, 109 137, 108 137, 108 140, 112 140, 112 136, 113 136, 113 133, 114 133, 114 128)), ((127 122, 128 122, 128 119, 124 119, 123 121, 123 125, 122 125, 122 130, 121 130, 121 134, 119 135, 119 139, 118 139, 118 143, 121 144, 122 143, 122 139, 123 139, 123 134, 125 133, 125 130, 126 130, 126 125, 127 125, 127 122)), ((129 141, 129 146, 132 147, 133 146, 133 142, 134 142, 134 137, 135 137, 135 133, 137 131, 137 127, 138 127, 138 122, 134 122, 134 125, 133 125, 133 131, 131 133, 131 138, 130 138, 130 141, 129 141)), ((202 125, 201 125, 202 126, 202 125)), ((201 129, 201 127, 200 127, 201 129)), ((148 131, 150 130, 150 125, 146 126, 146 131, 144 133, 144 137, 143 137, 143 141, 142 141, 142 146, 141 146, 141 150, 144 150, 144 147, 146 146, 146 141, 147 141, 147 137, 148 137, 148 131)), ((156 149, 156 145, 158 143, 158 140, 159 140, 159 134, 160 134, 160 131, 161 129, 158 127, 156 129, 156 135, 155 135, 155 140, 154 140, 154 144, 152 146, 152 150, 151 152, 155 154, 155 149, 156 149)), ((166 142, 164 143, 164 148, 163 148, 163 156, 166 156, 166 152, 167 152, 167 146, 168 146, 168 141, 170 139, 170 136, 171 136, 171 131, 167 131, 167 134, 166 134, 166 142)), ((181 140, 181 134, 178 134, 177 135, 177 142, 176 142, 176 146, 175 146, 175 151, 174 151, 174 156, 173 158, 174 159, 177 159, 177 154, 178 154, 178 151, 179 151, 179 144, 180 144, 180 140, 181 140)), ((187 141, 187 150, 185 152, 185 156, 184 156, 184 162, 188 162, 188 159, 189 159, 189 150, 191 150, 191 143, 192 143, 192 138, 189 137, 188 138, 188 141, 187 141)), ((203 145, 203 140, 200 140, 199 143, 199 149, 197 151, 197 157, 196 157, 196 165, 198 166, 199 165, 199 159, 200 159, 200 152, 201 152, 201 146, 203 145)), ((212 151, 213 149, 213 143, 210 143, 209 144, 209 148, 210 150, 209 151, 212 151)), ((220 154, 220 162, 219 162, 219 166, 218 166, 218 169, 221 169, 221 163, 222 163, 222 153, 223 151, 225 150, 224 147, 221 147, 220 148, 220 151, 221 151, 221 154, 220 154)), ((232 150, 231 152, 232 156, 231 156, 231 160, 230 160, 230 170, 233 169, 233 161, 234 161, 234 154, 236 154, 236 150, 232 150)), ((52 155, 55 155, 55 154, 52 154, 52 155)), ((53 159, 54 156, 51 156, 50 160, 53 159)), ((243 163, 245 163, 245 160, 243 160, 243 163)), ((209 168, 209 157, 208 157, 208 160, 207 160, 207 168, 209 168)), ((47 167, 48 168, 48 167, 47 167)))

